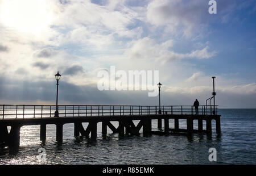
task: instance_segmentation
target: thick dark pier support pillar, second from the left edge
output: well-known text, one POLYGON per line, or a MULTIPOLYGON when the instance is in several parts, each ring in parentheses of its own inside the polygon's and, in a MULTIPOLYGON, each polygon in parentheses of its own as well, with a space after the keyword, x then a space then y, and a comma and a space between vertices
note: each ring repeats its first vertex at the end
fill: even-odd
POLYGON ((19 146, 19 140, 20 140, 20 125, 14 124, 11 126, 11 131, 9 133, 9 147, 18 147, 19 146))

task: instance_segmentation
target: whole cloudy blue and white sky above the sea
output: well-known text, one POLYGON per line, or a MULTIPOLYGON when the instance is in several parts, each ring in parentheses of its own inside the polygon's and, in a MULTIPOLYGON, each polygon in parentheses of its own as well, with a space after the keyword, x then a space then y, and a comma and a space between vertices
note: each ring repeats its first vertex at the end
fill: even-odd
POLYGON ((158 105, 99 90, 114 66, 158 70, 162 105, 205 104, 215 76, 220 108, 256 108, 256 2, 208 2, 0 0, 0 104, 55 104, 59 71, 59 104, 158 105))

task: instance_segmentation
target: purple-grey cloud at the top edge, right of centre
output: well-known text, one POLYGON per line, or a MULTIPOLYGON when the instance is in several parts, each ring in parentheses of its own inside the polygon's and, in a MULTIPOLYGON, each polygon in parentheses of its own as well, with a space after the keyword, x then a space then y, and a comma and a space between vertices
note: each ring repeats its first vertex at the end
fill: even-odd
POLYGON ((184 36, 206 33, 211 22, 223 20, 234 11, 233 1, 218 1, 217 14, 208 13, 209 1, 204 0, 154 0, 148 3, 147 21, 156 27, 164 27, 166 32, 184 36))

